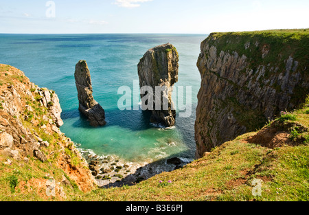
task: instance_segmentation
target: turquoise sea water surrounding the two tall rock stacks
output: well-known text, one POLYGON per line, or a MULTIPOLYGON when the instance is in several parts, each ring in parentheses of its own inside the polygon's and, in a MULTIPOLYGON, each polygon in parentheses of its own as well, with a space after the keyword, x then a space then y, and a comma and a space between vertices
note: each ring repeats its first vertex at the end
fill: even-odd
POLYGON ((17 67, 39 87, 56 91, 65 123, 60 130, 81 148, 135 162, 167 157, 194 159, 196 95, 201 85, 196 60, 201 41, 206 37, 201 34, 0 34, 0 63, 17 67), (117 94, 119 87, 128 86, 133 91, 133 81, 139 80, 139 59, 148 49, 163 43, 172 43, 179 52, 179 82, 175 87, 192 86, 192 115, 177 117, 173 129, 151 126, 149 115, 141 110, 119 111, 117 107, 122 97, 117 94), (104 127, 89 126, 78 111, 74 80, 78 60, 87 60, 93 96, 106 111, 104 127))

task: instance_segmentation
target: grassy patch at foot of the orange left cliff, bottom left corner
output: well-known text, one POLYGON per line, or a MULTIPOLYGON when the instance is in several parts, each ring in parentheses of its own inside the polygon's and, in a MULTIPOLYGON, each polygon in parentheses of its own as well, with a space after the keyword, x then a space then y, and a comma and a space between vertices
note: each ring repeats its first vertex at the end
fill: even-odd
MULTIPOLYGON (((30 158, 24 161, 12 161, 12 165, 4 164, 5 157, 0 157, 0 200, 1 201, 61 201, 57 196, 46 196, 45 183, 49 177, 61 181, 69 177, 63 170, 48 163, 30 158), (41 183, 39 186, 38 183, 41 183)), ((82 194, 74 181, 71 186, 61 185, 65 193, 82 194)))

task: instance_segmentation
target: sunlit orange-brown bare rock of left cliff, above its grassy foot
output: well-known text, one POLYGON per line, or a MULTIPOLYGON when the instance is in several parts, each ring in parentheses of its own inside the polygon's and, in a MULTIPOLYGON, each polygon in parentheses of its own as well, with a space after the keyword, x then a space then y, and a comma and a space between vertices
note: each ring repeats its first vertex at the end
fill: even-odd
POLYGON ((80 190, 95 188, 87 162, 59 129, 63 122, 56 93, 37 87, 9 65, 0 65, 0 91, 0 155, 23 166, 49 163, 49 171, 62 170, 80 190))

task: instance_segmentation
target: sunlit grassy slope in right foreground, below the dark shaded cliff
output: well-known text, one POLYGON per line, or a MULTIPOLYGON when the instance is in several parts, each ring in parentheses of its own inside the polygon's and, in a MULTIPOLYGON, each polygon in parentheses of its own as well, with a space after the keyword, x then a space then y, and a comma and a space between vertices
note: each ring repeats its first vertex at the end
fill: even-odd
MULTIPOLYGON (((305 108, 309 99, 307 101, 305 108)), ((308 125, 305 110, 288 113, 284 120, 277 119, 270 124, 303 122, 308 125)), ((308 135, 308 132, 297 132, 308 135)), ((309 201, 308 142, 275 149, 244 142, 255 133, 244 134, 216 147, 182 169, 164 172, 130 187, 94 190, 77 200, 309 201), (262 180, 262 196, 252 194, 254 179, 262 180)), ((295 134, 291 132, 290 135, 295 134)))

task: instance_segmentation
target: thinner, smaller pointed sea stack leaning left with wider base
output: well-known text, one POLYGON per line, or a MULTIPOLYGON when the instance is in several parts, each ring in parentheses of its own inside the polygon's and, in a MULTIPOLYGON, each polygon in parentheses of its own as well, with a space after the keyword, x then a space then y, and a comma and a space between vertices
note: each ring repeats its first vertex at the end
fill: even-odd
POLYGON ((91 126, 104 126, 105 111, 93 98, 90 71, 85 60, 76 64, 75 80, 80 102, 79 110, 88 117, 91 126))

